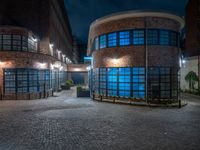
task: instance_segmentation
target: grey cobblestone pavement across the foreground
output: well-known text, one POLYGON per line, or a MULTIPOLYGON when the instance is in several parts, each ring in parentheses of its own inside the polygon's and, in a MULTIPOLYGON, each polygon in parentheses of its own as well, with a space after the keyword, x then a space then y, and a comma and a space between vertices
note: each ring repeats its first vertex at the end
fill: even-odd
POLYGON ((74 98, 0 101, 0 150, 200 150, 200 99, 150 108, 74 98))

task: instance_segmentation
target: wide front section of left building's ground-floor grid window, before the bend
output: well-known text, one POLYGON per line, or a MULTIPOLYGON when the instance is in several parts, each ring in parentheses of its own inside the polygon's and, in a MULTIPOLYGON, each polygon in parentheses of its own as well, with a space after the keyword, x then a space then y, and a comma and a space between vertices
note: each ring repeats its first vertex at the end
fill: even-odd
POLYGON ((49 70, 5 69, 4 78, 5 94, 43 92, 51 88, 49 70))

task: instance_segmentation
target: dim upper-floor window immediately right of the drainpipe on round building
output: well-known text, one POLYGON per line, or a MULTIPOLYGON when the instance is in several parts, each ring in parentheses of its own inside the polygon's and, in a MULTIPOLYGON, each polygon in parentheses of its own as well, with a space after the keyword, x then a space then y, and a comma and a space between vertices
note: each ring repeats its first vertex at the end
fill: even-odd
POLYGON ((158 30, 157 29, 148 29, 147 35, 148 35, 147 42, 149 45, 158 44, 158 30))

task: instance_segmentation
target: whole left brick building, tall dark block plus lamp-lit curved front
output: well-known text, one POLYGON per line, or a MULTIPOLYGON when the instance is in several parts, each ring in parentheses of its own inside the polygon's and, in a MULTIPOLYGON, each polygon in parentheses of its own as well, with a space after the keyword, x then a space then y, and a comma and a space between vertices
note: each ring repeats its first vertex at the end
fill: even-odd
POLYGON ((77 62, 74 51, 63 0, 0 1, 1 99, 51 95, 77 62))

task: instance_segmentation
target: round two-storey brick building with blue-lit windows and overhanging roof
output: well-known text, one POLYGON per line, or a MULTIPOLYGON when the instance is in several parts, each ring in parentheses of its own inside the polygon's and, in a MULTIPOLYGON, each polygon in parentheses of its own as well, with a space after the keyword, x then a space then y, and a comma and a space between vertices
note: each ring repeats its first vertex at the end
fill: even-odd
POLYGON ((182 18, 164 12, 129 11, 94 21, 88 39, 93 94, 176 102, 183 26, 182 18))

